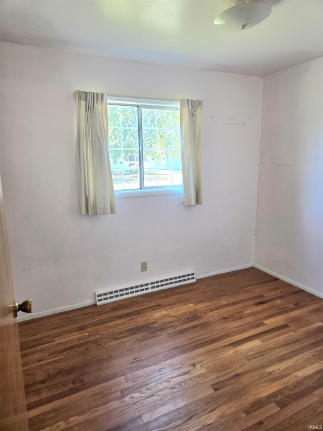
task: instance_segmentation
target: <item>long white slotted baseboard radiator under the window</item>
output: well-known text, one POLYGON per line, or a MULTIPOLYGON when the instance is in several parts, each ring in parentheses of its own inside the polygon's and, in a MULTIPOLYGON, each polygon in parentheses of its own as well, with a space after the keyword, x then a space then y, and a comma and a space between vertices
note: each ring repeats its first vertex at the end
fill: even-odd
POLYGON ((149 292, 161 291, 181 284, 194 283, 195 281, 194 271, 190 271, 185 274, 175 275, 155 281, 134 284, 133 286, 107 289, 106 291, 95 292, 96 305, 120 301, 121 299, 143 295, 149 292))

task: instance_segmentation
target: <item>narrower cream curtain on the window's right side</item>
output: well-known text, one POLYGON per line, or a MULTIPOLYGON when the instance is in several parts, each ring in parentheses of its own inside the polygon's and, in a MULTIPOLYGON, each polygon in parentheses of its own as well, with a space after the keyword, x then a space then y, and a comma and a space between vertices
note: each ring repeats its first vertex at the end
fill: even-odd
POLYGON ((202 204, 201 195, 201 117, 203 102, 181 100, 180 127, 183 172, 182 204, 202 204))

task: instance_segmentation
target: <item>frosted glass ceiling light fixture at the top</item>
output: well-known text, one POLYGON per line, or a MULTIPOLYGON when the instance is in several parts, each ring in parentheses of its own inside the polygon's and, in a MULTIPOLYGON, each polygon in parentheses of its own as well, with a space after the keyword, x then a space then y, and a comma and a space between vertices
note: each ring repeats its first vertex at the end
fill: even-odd
POLYGON ((247 30, 272 13, 272 7, 264 2, 242 0, 226 9, 214 21, 219 28, 226 31, 247 30))

